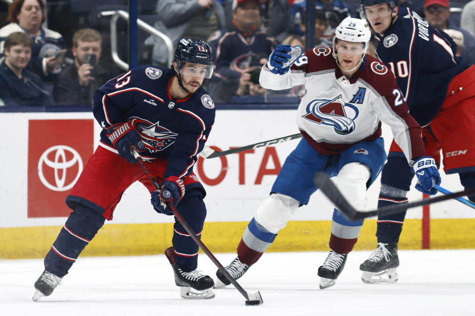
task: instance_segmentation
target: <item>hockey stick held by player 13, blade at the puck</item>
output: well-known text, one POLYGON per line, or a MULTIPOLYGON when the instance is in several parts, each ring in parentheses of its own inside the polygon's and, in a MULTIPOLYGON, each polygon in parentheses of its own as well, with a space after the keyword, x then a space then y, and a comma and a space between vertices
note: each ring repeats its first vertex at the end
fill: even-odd
MULTIPOLYGON (((160 186, 158 183, 155 181, 153 176, 150 174, 150 171, 145 167, 142 161, 142 157, 140 157, 139 152, 137 149, 132 147, 131 154, 134 156, 134 158, 139 162, 140 166, 142 167, 143 172, 146 174, 150 182, 153 184, 156 190, 160 190, 160 186)), ((226 271, 226 269, 223 267, 223 265, 216 259, 216 257, 209 251, 208 247, 205 246, 205 244, 196 236, 196 233, 193 231, 193 229, 188 225, 188 223, 185 221, 185 219, 180 215, 178 210, 172 205, 172 204, 167 204, 165 202, 161 202, 162 206, 165 208, 170 208, 173 215, 175 215, 175 218, 182 224, 182 226, 185 228, 185 230, 190 234, 190 237, 196 242, 196 244, 203 250, 203 252, 208 256, 209 259, 218 267, 219 271, 226 276, 226 278, 233 283, 233 285, 238 289, 239 293, 244 296, 246 299, 246 305, 259 305, 263 304, 264 301, 262 300, 261 293, 257 291, 254 294, 247 293, 240 285, 239 283, 226 271)))

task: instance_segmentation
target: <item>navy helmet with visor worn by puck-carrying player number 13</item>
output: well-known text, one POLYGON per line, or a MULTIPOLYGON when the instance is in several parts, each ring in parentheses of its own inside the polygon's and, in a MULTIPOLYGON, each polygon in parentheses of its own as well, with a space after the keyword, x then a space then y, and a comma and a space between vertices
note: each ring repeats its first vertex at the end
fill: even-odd
POLYGON ((213 75, 211 48, 204 40, 181 39, 175 50, 175 61, 179 72, 185 63, 192 63, 206 66, 205 79, 213 75))

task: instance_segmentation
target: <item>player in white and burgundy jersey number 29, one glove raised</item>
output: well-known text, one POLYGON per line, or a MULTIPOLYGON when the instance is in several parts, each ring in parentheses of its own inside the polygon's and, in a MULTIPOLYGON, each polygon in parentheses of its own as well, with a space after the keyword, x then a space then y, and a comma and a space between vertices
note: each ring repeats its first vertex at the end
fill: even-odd
MULTIPOLYGON (((303 139, 286 158, 270 197, 249 222, 238 257, 226 267, 233 277, 256 263, 298 207, 308 203, 318 190, 313 182, 317 171, 336 176, 345 198, 355 208, 365 208, 366 190, 386 160, 381 121, 392 128, 426 189, 438 181, 437 169, 425 163, 421 127, 408 113, 394 76, 366 54, 370 38, 365 20, 348 17, 336 28, 332 48, 313 48, 299 57, 299 46, 279 45, 263 66, 260 83, 267 89, 305 84, 307 93, 296 115, 303 139)), ((363 221, 349 221, 334 210, 331 250, 318 269, 320 288, 335 283, 362 225, 363 221)), ((216 275, 216 286, 230 283, 219 271, 216 275)))

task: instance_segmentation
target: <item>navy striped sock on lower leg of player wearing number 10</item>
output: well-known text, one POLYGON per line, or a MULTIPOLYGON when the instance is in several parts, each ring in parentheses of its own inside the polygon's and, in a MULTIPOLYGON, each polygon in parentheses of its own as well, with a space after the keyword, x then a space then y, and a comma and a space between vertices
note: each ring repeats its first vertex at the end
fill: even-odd
MULTIPOLYGON (((378 208, 396 203, 407 203, 407 198, 380 195, 378 200, 378 208)), ((376 231, 378 242, 398 242, 405 217, 406 211, 392 215, 378 216, 378 229, 376 231)))

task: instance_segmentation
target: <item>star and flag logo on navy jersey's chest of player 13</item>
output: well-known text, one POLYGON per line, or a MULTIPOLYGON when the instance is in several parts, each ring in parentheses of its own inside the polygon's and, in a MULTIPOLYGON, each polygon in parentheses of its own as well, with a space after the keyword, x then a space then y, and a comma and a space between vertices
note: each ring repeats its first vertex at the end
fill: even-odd
POLYGON ((151 153, 160 152, 175 143, 178 134, 159 125, 159 122, 151 123, 142 118, 132 118, 132 126, 142 136, 145 148, 151 153))

